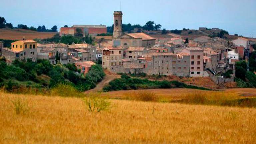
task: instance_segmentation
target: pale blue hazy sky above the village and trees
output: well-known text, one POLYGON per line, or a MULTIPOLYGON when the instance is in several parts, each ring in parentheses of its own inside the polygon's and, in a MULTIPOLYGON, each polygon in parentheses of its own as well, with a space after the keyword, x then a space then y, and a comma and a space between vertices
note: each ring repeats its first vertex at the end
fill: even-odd
POLYGON ((256 0, 1 0, 0 16, 14 26, 110 26, 120 1, 124 24, 151 20, 166 29, 218 27, 256 37, 256 0))

